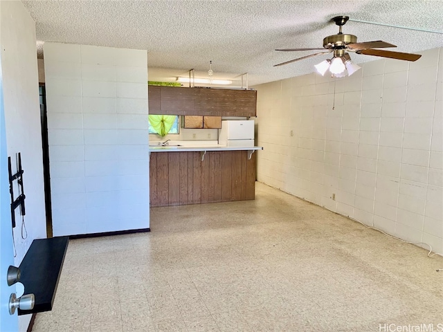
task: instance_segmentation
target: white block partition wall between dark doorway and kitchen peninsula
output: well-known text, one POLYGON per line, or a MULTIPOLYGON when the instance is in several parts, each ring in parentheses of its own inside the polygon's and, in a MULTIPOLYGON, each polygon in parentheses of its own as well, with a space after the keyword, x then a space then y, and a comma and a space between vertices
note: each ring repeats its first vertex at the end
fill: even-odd
POLYGON ((149 228, 147 52, 44 44, 54 235, 149 228))

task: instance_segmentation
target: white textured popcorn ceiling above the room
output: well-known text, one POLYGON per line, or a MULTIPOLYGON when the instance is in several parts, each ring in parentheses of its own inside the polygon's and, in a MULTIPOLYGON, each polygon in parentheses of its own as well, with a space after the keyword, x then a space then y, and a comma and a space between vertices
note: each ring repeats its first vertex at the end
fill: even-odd
MULTIPOLYGON (((248 73, 249 86, 303 75, 327 58, 319 55, 286 66, 274 64, 315 51, 275 48, 322 47, 338 33, 330 19, 347 15, 423 30, 443 30, 443 1, 23 1, 37 23, 37 40, 148 50, 150 80, 187 75, 214 78, 248 73)), ((443 35, 348 21, 344 33, 359 42, 383 40, 400 52, 443 46, 443 35)), ((352 54, 354 62, 379 59, 352 54)), ((400 60, 398 60, 400 61, 400 60)), ((235 78, 237 77, 237 78, 235 78)))

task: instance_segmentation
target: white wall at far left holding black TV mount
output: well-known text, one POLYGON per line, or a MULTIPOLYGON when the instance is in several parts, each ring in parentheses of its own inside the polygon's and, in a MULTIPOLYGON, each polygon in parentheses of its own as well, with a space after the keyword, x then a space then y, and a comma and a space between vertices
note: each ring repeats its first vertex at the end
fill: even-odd
MULTIPOLYGON (((0 1, 0 12, 1 69, 8 155, 12 157, 12 172, 15 172, 15 154, 21 152, 26 194, 26 239, 21 239, 19 209, 15 214, 15 264, 19 266, 33 239, 46 237, 35 23, 21 1, 0 1)), ((15 189, 17 194, 17 187, 15 189)), ((1 222, 10 223, 10 220, 1 222)), ((19 330, 26 331, 29 321, 30 315, 20 316, 19 330)))

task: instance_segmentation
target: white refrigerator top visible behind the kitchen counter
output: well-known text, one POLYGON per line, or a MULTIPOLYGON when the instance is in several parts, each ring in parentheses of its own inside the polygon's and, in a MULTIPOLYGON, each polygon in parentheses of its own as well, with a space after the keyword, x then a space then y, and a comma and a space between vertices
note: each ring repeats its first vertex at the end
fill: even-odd
POLYGON ((254 120, 222 120, 219 145, 226 147, 253 147, 254 120))

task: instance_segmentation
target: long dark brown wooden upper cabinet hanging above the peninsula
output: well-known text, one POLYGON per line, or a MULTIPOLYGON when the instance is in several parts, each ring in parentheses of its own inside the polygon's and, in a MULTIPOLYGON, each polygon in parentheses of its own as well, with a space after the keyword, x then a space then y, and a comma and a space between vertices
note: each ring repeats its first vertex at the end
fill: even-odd
POLYGON ((148 89, 150 114, 248 117, 256 115, 257 91, 253 90, 177 86, 149 86, 148 89))

